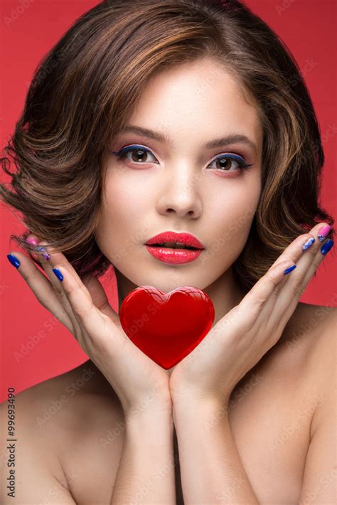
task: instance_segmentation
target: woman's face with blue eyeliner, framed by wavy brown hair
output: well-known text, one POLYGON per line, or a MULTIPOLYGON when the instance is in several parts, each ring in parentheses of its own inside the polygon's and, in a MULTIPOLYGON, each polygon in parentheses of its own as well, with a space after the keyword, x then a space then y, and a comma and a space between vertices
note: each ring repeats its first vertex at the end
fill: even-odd
POLYGON ((119 134, 109 149, 134 149, 124 149, 120 158, 109 153, 105 161, 97 245, 136 286, 205 289, 230 272, 257 208, 262 151, 257 110, 237 81, 205 58, 153 78, 128 127, 134 130, 119 134), (230 135, 242 139, 213 142, 230 135), (241 168, 241 162, 252 166, 241 168), (165 231, 191 233, 204 249, 193 261, 164 262, 145 243, 165 231))

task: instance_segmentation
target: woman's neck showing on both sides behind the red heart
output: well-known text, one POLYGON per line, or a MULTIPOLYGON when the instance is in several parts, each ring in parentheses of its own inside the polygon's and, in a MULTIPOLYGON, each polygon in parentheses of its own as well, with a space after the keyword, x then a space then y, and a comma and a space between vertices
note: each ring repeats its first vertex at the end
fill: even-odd
MULTIPOLYGON (((129 292, 133 289, 136 289, 138 286, 119 272, 116 267, 114 268, 114 272, 118 287, 118 309, 120 309, 127 294, 129 294, 129 292)), ((213 326, 219 321, 219 319, 225 316, 225 314, 230 312, 235 305, 239 304, 245 296, 240 287, 237 285, 237 282, 235 282, 231 268, 224 272, 223 275, 220 275, 220 277, 218 277, 218 279, 210 285, 203 288, 203 292, 208 294, 213 302, 215 312, 213 326)))

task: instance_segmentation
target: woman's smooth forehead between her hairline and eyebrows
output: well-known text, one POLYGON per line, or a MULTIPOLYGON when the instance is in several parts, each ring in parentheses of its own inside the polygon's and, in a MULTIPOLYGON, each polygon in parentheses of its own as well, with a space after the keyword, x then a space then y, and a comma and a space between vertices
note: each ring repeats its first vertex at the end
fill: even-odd
POLYGON ((257 107, 240 82, 218 61, 203 58, 154 76, 144 88, 129 124, 163 132, 171 147, 179 139, 240 132, 262 141, 257 107))

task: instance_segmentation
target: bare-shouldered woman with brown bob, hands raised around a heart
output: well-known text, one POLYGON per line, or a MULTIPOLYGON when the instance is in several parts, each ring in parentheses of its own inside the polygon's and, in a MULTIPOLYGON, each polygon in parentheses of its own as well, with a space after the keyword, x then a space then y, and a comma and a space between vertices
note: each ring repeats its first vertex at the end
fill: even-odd
POLYGON ((313 105, 275 33, 238 1, 102 2, 39 65, 7 153, 31 258, 9 260, 90 358, 16 398, 17 503, 332 504, 336 311, 299 297, 333 220, 313 105), (166 231, 202 252, 146 245, 166 231), (119 307, 141 285, 212 299, 208 335, 169 371, 124 334, 109 265, 119 307))

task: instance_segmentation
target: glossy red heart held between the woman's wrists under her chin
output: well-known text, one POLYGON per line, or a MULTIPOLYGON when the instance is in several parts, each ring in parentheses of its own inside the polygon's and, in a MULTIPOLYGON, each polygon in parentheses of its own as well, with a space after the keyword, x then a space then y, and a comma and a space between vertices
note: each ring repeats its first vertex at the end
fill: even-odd
POLYGON ((169 293, 153 286, 137 287, 119 309, 119 320, 129 339, 166 370, 200 344, 214 316, 210 297, 193 286, 169 293))

